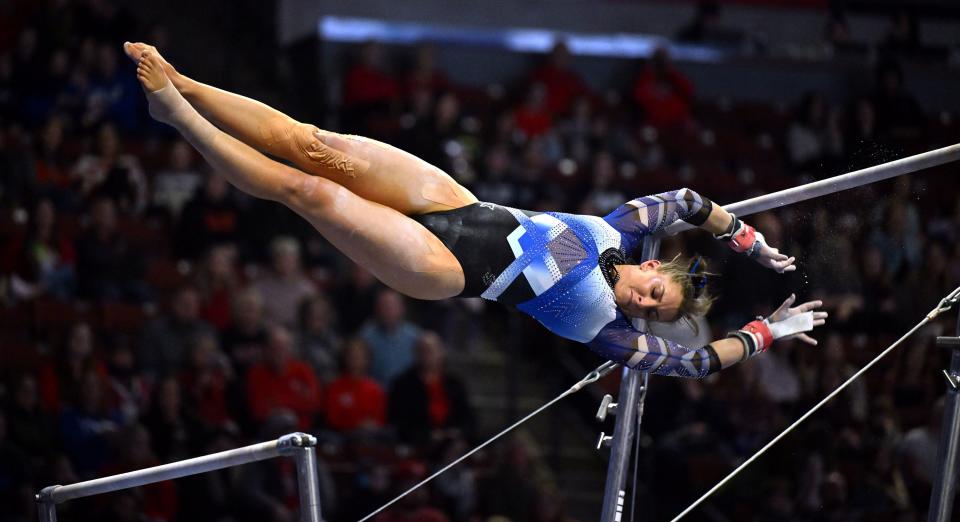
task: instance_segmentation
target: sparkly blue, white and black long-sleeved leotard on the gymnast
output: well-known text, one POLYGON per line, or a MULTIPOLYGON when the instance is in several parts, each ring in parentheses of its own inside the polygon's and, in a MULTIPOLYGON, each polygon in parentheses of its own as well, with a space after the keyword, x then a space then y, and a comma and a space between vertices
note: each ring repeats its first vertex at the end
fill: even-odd
POLYGON ((634 199, 603 218, 476 203, 415 219, 457 256, 466 277, 462 296, 513 306, 631 368, 699 378, 720 370, 713 348, 643 332, 642 321, 617 307, 609 267, 644 236, 678 219, 700 225, 711 209, 710 200, 680 189, 634 199))

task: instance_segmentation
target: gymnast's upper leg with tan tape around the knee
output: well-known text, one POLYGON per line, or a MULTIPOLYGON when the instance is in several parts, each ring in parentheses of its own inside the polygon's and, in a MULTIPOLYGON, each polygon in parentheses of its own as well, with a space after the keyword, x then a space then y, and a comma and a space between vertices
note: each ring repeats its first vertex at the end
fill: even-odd
POLYGON ((477 201, 445 172, 412 154, 369 138, 320 130, 256 100, 192 80, 152 46, 128 43, 124 50, 134 60, 144 51, 155 55, 183 97, 228 134, 308 173, 336 181, 364 199, 406 215, 477 201))

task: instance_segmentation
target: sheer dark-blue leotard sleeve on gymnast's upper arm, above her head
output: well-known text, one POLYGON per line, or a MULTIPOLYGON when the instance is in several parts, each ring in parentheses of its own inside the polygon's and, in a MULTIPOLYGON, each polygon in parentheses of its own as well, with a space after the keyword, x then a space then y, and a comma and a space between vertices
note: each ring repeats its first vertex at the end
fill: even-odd
POLYGON ((678 219, 694 226, 702 225, 712 210, 713 203, 709 199, 682 188, 630 200, 604 216, 603 220, 620 232, 621 246, 630 253, 644 236, 658 232, 678 219))

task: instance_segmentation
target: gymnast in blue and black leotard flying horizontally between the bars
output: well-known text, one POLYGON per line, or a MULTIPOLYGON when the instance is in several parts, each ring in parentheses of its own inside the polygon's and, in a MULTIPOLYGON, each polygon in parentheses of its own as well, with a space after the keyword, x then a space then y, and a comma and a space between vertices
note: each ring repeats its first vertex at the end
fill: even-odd
POLYGON ((777 272, 796 270, 794 258, 690 189, 637 198, 603 218, 480 202, 402 150, 320 130, 192 80, 155 47, 125 43, 124 51, 137 63, 151 116, 176 128, 234 186, 286 205, 410 297, 480 296, 609 360, 694 378, 762 353, 776 339, 816 344, 805 332, 826 320, 820 301, 794 307, 791 295, 768 318, 703 347, 651 335, 647 321, 703 315, 713 298, 702 258, 632 261, 628 254, 644 236, 679 219, 777 272))

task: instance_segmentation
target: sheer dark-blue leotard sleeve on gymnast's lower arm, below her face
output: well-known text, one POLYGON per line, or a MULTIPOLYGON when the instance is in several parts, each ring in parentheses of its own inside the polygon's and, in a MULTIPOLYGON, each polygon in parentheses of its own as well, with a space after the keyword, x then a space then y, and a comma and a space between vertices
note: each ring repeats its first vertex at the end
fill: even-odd
POLYGON ((600 356, 635 370, 671 377, 702 379, 720 371, 720 357, 712 346, 688 348, 640 332, 622 314, 617 315, 587 343, 600 356))

